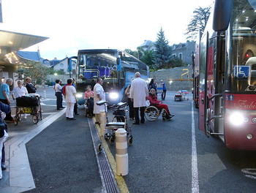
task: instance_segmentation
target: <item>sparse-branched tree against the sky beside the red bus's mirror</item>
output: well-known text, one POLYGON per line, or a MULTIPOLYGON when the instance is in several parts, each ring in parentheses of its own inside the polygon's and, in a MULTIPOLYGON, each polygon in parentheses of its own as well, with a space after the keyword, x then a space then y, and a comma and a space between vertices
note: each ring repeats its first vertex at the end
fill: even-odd
POLYGON ((206 23, 210 16, 211 6, 206 8, 196 8, 193 12, 192 20, 190 21, 189 25, 187 25, 186 33, 184 35, 187 36, 188 40, 195 40, 197 37, 198 31, 204 31, 206 28, 206 23))

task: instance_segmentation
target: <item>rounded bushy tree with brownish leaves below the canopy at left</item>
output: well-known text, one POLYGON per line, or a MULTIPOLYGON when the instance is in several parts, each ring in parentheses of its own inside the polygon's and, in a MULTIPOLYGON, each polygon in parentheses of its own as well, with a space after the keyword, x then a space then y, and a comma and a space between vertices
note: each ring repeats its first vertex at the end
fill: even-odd
POLYGON ((48 67, 45 67, 39 61, 28 61, 26 64, 22 64, 18 67, 16 77, 20 80, 26 80, 26 77, 31 77, 34 83, 42 83, 42 86, 45 82, 45 77, 50 74, 48 67))

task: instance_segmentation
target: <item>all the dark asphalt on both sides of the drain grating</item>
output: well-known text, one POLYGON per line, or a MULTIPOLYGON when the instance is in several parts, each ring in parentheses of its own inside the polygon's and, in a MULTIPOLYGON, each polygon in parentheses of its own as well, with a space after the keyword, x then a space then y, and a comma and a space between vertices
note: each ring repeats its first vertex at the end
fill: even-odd
MULTIPOLYGON (((171 121, 129 122, 133 143, 128 147, 129 174, 123 177, 129 192, 255 192, 256 175, 244 173, 255 173, 255 151, 231 151, 221 140, 207 138, 197 129, 192 95, 174 102, 174 94, 167 92, 165 100, 175 114, 171 121)), ((50 113, 55 101, 44 103, 44 112, 50 113)), ((78 112, 76 121, 63 115, 26 144, 36 184, 29 192, 102 192, 88 121, 82 107, 78 112)), ((115 157, 115 145, 108 148, 115 157)))

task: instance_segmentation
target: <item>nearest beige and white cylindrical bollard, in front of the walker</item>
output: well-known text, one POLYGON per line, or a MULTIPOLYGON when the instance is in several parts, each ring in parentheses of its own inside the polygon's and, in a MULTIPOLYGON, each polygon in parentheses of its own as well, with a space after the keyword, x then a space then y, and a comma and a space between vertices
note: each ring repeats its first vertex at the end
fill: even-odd
POLYGON ((116 131, 116 175, 128 174, 127 131, 116 131))

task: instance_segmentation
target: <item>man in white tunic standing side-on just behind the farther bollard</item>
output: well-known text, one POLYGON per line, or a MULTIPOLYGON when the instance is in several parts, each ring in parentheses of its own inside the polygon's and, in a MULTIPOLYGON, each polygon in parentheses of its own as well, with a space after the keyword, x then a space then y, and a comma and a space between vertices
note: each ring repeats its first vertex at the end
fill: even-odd
POLYGON ((105 100, 105 91, 102 87, 102 79, 97 78, 97 83, 94 86, 94 114, 95 114, 95 124, 99 124, 99 110, 104 110, 105 105, 97 105, 96 103, 105 100))

